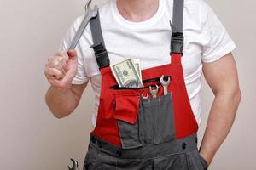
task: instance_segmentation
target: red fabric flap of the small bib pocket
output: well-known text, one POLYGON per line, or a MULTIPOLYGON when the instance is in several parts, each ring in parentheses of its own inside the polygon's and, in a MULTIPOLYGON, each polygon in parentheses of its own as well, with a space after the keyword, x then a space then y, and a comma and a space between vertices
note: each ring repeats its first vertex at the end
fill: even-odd
POLYGON ((116 95, 116 108, 114 118, 135 124, 139 110, 139 95, 116 95))

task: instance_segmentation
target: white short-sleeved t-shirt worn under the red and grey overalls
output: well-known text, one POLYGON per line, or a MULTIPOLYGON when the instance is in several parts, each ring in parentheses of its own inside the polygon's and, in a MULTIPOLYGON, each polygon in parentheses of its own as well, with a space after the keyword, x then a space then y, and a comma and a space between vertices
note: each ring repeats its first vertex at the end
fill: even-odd
MULTIPOLYGON (((110 63, 126 58, 140 59, 142 69, 170 63, 173 0, 160 0, 157 12, 149 20, 131 22, 119 14, 116 0, 110 0, 100 8, 102 34, 108 50, 110 63)), ((67 50, 79 28, 83 16, 74 21, 67 31, 61 50, 67 50)), ((236 48, 224 26, 203 0, 185 0, 183 16, 183 75, 189 94, 190 105, 200 123, 202 63, 213 62, 236 48)), ((88 25, 76 48, 79 69, 73 84, 91 82, 96 94, 92 124, 96 116, 101 92, 101 73, 96 63, 88 25)))

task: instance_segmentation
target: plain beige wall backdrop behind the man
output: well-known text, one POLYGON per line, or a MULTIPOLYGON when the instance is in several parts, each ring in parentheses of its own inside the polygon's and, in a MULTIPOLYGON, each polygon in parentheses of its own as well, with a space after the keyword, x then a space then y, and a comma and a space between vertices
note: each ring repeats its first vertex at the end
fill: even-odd
MULTIPOLYGON (((102 5, 105 1, 93 1, 102 5)), ((0 169, 65 170, 70 157, 82 169, 94 94, 88 88, 72 115, 56 119, 44 103, 44 64, 79 15, 84 0, 0 0, 0 169)), ((236 42, 242 100, 236 122, 210 170, 256 169, 256 13, 254 0, 207 0, 236 42)), ((213 95, 202 90, 200 136, 213 95)))

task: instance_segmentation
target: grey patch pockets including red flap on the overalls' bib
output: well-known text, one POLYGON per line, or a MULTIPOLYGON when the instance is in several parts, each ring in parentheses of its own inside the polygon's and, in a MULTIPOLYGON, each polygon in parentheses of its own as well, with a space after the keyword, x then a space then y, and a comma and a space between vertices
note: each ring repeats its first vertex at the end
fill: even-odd
POLYGON ((114 108, 123 149, 166 143, 175 137, 171 94, 142 99, 135 91, 119 91, 114 108))

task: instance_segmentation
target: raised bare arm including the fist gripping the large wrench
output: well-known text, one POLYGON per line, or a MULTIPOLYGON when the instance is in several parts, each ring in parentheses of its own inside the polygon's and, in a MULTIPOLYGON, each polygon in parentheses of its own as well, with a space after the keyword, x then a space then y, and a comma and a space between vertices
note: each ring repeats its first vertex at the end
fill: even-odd
POLYGON ((74 50, 57 53, 45 65, 44 74, 51 86, 45 96, 49 110, 57 118, 71 114, 79 105, 84 84, 71 84, 78 70, 78 57, 74 50))

